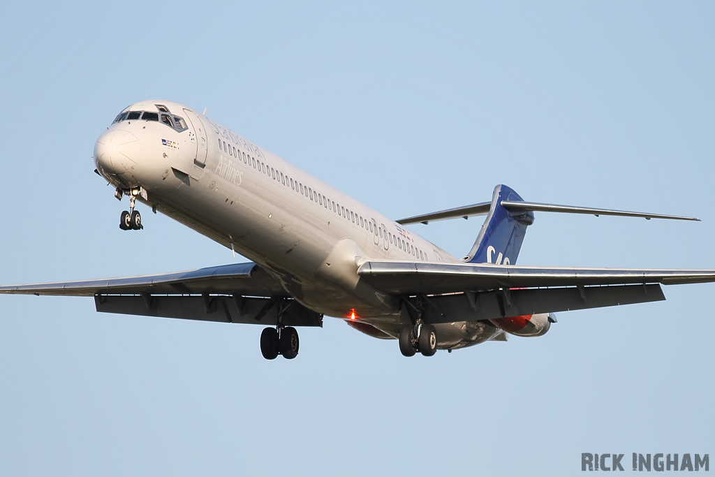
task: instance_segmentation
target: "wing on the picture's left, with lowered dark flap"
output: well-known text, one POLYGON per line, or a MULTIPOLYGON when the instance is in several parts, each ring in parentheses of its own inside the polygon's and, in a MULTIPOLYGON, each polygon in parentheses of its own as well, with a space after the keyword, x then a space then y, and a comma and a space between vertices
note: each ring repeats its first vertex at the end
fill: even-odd
POLYGON ((0 293, 94 296, 97 311, 186 320, 275 326, 322 326, 322 315, 308 310, 280 282, 253 262, 186 272, 102 278, 77 282, 0 286, 0 293))

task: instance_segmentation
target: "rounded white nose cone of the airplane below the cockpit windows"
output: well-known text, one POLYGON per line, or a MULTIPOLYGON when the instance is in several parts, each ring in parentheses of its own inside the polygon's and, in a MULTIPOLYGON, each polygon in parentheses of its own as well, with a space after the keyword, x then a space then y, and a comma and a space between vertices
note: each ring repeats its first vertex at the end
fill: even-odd
POLYGON ((108 129, 94 144, 94 164, 102 175, 132 170, 142 152, 137 136, 123 129, 108 129))

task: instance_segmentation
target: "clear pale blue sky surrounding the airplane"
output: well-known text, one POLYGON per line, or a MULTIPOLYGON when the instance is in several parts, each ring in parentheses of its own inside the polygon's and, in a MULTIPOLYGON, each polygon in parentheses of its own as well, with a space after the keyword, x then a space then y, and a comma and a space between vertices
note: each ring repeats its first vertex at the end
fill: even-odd
MULTIPOLYGON (((715 268, 709 2, 15 2, 4 7, 3 284, 170 272, 230 250, 92 169, 127 104, 202 111, 390 217, 537 214, 525 265, 715 268), (140 206, 141 207, 141 206, 140 206)), ((481 220, 411 227, 461 256, 481 220)), ((3 475, 573 475, 582 452, 713 453, 715 285, 558 314, 543 338, 403 358, 339 320, 267 362, 259 327, 0 296, 3 475)))

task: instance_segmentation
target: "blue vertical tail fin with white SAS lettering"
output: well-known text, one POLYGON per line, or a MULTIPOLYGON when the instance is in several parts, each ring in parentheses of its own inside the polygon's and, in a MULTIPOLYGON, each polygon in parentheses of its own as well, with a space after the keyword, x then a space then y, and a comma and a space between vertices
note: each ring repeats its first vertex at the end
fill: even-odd
POLYGON ((509 212, 501 205, 503 200, 523 201, 506 185, 494 187, 492 205, 469 255, 463 260, 470 263, 514 265, 526 235, 526 227, 533 224, 533 212, 509 212))

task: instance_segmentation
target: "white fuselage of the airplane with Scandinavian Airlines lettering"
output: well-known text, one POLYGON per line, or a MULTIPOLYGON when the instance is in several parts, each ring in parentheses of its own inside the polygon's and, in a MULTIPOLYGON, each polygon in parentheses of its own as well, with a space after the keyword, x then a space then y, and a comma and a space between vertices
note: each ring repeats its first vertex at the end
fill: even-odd
POLYGON ((398 301, 358 285, 361 260, 459 261, 181 104, 141 102, 124 112, 156 112, 157 105, 187 129, 114 122, 95 146, 102 177, 121 190, 142 187, 147 197, 139 200, 263 265, 308 308, 394 323, 398 301))

